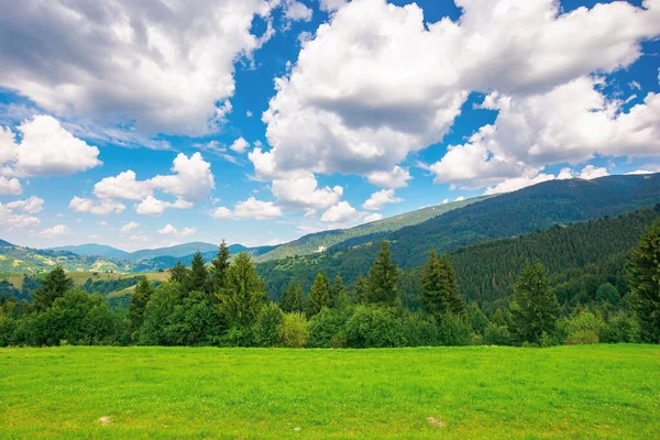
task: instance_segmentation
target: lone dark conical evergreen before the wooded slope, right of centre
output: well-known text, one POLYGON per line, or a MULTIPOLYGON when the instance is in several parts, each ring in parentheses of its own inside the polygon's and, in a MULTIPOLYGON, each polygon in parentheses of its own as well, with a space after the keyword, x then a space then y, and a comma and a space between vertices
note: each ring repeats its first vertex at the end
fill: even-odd
POLYGON ((548 288, 541 262, 528 264, 515 286, 512 316, 518 342, 538 343, 543 333, 551 334, 557 323, 559 304, 548 288))

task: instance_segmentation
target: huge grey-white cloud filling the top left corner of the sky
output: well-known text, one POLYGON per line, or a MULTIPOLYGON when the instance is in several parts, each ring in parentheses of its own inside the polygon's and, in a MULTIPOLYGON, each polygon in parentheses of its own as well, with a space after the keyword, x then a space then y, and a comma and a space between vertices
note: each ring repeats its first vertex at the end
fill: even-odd
POLYGON ((152 133, 202 134, 230 108, 237 59, 250 59, 273 35, 268 15, 276 4, 8 2, 0 18, 0 86, 56 113, 135 121, 152 133), (255 15, 267 20, 262 36, 250 32, 255 15))

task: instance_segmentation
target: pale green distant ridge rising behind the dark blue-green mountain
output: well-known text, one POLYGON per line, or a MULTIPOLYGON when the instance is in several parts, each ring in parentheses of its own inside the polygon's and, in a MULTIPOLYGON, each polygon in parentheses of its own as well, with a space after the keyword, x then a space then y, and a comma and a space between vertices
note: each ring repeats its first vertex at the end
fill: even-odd
POLYGON ((493 196, 475 197, 468 200, 451 201, 443 205, 427 207, 371 223, 360 224, 350 229, 337 229, 307 234, 298 240, 275 246, 271 252, 264 253, 257 257, 256 261, 266 262, 285 258, 287 256, 319 253, 336 244, 345 242, 346 240, 396 231, 404 227, 418 224, 432 219, 433 217, 442 216, 454 209, 460 209, 477 201, 485 200, 490 197, 493 196))

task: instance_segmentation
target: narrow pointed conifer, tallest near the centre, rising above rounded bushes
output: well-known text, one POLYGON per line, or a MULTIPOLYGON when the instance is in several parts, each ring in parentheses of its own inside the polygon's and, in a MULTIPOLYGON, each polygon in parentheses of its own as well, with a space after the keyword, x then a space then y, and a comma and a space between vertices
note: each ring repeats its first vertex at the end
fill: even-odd
POLYGON ((400 297, 396 287, 397 279, 398 266, 392 263, 389 243, 387 240, 383 240, 381 251, 378 251, 376 261, 369 271, 366 278, 367 302, 387 306, 400 305, 400 297))

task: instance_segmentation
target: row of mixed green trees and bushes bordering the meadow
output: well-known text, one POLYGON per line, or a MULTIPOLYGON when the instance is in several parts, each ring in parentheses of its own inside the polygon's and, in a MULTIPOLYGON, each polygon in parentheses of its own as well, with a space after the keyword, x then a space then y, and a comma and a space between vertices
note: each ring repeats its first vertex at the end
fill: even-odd
POLYGON ((0 300, 0 345, 141 344, 289 348, 536 345, 660 341, 660 222, 627 260, 627 294, 604 283, 596 302, 571 309, 535 258, 513 284, 513 297, 492 314, 468 302, 450 258, 431 251, 419 272, 419 307, 406 307, 402 271, 383 241, 365 275, 346 288, 319 273, 306 293, 292 280, 270 301, 246 253, 224 243, 207 265, 197 253, 155 287, 146 277, 128 309, 76 288, 62 267, 48 273, 32 301, 0 300), (155 288, 154 288, 155 287, 155 288))

